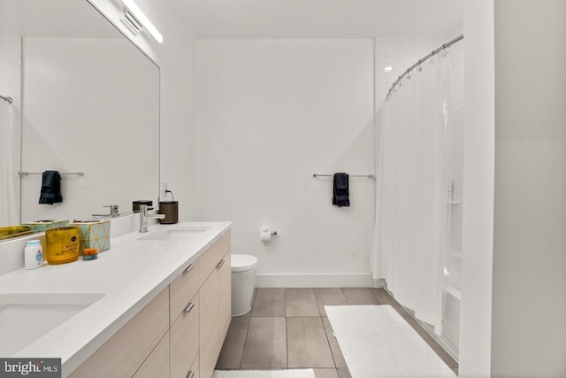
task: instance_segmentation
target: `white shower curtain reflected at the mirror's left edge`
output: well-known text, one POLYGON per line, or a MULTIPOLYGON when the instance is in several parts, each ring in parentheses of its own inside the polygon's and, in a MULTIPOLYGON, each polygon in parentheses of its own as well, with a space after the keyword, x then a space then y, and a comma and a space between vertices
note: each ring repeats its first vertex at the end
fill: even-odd
POLYGON ((0 99, 0 226, 19 224, 11 141, 11 104, 0 99))

